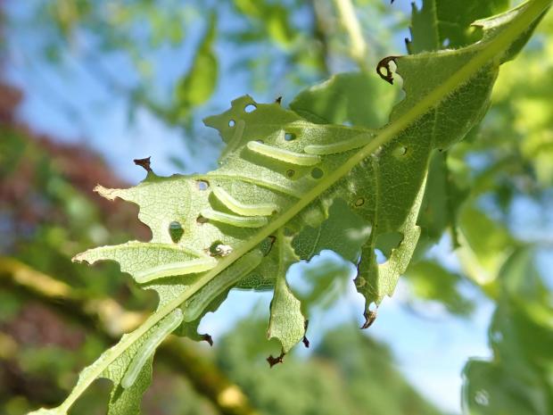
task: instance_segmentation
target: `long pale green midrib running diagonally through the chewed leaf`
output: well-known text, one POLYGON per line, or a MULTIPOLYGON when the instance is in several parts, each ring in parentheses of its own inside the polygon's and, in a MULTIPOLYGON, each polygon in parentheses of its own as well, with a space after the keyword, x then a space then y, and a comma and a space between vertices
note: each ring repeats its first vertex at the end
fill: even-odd
POLYGON ((441 86, 436 87, 431 93, 409 109, 408 112, 405 112, 400 118, 384 127, 373 141, 361 148, 358 153, 352 155, 347 162, 344 162, 342 166, 334 170, 326 178, 322 179, 317 186, 307 192, 301 200, 294 203, 290 209, 268 223, 265 228, 262 228, 260 232, 246 241, 243 245, 238 246, 233 253, 219 261, 215 268, 207 271, 202 278, 198 279, 191 286, 188 286, 183 294, 178 295, 169 303, 161 306, 161 308, 155 311, 148 320, 144 321, 142 326, 136 328, 134 332, 128 334, 119 344, 112 347, 109 352, 106 353, 103 364, 98 365, 98 368, 92 370, 91 373, 87 373, 87 379, 83 380, 80 385, 77 385, 73 389, 68 398, 60 406, 60 409, 67 411, 72 403, 77 400, 78 396, 102 374, 103 370, 106 369, 112 361, 115 361, 124 353, 130 344, 133 344, 140 336, 143 336, 150 328, 153 328, 155 324, 167 316, 171 311, 175 310, 188 298, 197 293, 202 286, 205 286, 212 278, 217 277, 221 271, 226 270, 233 262, 241 258, 245 253, 251 251, 255 246, 260 245, 266 237, 275 233, 278 228, 282 228, 319 195, 322 195, 329 187, 346 176, 353 167, 359 164, 359 162, 366 159, 370 154, 373 154, 381 145, 388 143, 393 137, 402 130, 407 129, 411 123, 418 120, 428 110, 433 108, 433 106, 440 104, 447 95, 450 95, 450 93, 462 87, 477 71, 482 69, 486 63, 497 62, 501 51, 507 50, 508 46, 516 40, 516 37, 519 37, 525 30, 531 27, 532 22, 535 21, 552 2, 553 0, 529 0, 526 10, 521 12, 510 26, 501 31, 497 37, 487 42, 485 47, 480 48, 469 62, 451 75, 449 79, 445 80, 441 86))

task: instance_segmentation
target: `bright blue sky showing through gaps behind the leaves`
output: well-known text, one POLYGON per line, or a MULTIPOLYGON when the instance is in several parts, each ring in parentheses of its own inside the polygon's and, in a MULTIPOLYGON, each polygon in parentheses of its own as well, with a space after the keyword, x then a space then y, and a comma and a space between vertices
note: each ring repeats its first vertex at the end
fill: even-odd
MULTIPOLYGON (((29 4, 37 3, 37 0, 29 1, 29 4)), ((409 2, 396 3, 396 7, 409 12, 409 2)), ((21 4, 9 4, 15 21, 25 19, 26 9, 21 4)), ((400 34, 396 50, 391 52, 402 50, 400 40, 404 35, 405 33, 400 34)), ((194 33, 192 36, 194 37, 194 33)), ((177 172, 176 167, 169 162, 170 156, 175 154, 186 165, 186 170, 178 172, 204 171, 215 166, 219 147, 212 144, 214 131, 203 129, 200 132, 201 137, 196 137, 194 145, 202 146, 202 157, 194 156, 188 152, 181 130, 168 128, 150 113, 139 110, 134 121, 129 123, 127 101, 113 94, 97 79, 91 78, 83 70, 83 63, 78 62, 78 57, 66 57, 62 70, 59 67, 41 65, 34 57, 40 46, 40 38, 35 34, 13 28, 6 75, 25 92, 19 116, 32 129, 62 141, 94 148, 130 184, 144 178, 144 171, 133 164, 134 158, 152 156, 153 168, 160 175, 177 172), (70 108, 74 112, 68 111, 70 108)), ((225 110, 231 99, 252 92, 247 90, 246 79, 231 71, 234 63, 233 51, 226 51, 223 46, 219 46, 218 50, 221 56, 221 73, 224 75, 213 99, 216 104, 210 104, 205 115, 225 110)), ((171 50, 161 50, 155 56, 168 72, 172 71, 172 53, 174 52, 171 50)), ((183 50, 182 54, 186 58, 190 51, 183 50)), ((130 72, 129 63, 120 56, 115 55, 108 62, 114 74, 130 72)), ((124 75, 120 78, 133 82, 133 79, 125 79, 124 75)), ((268 101, 277 95, 278 91, 271 96, 255 98, 268 101)), ((449 244, 446 239, 435 253, 451 267, 457 267, 454 256, 448 252, 449 244)), ((294 281, 299 278, 299 270, 294 270, 292 274, 289 278, 294 285, 294 281)), ((467 296, 478 297, 475 289, 470 286, 464 289, 467 296)), ((425 304, 424 312, 414 312, 406 305, 408 299, 407 286, 400 283, 396 295, 384 300, 376 324, 367 330, 367 336, 374 336, 392 347, 397 367, 428 399, 451 413, 458 413, 461 369, 469 357, 487 357, 490 354, 486 329, 491 318, 491 303, 478 297, 479 306, 474 316, 464 320, 450 316, 435 304, 425 304)), ((247 316, 254 307, 268 310, 269 302, 268 293, 255 295, 249 292, 233 292, 219 311, 206 316, 202 321, 202 330, 217 338, 232 327, 233 322, 247 316)), ((330 310, 321 310, 310 316, 310 340, 317 342, 320 338, 317 333, 341 322, 360 321, 362 308, 363 301, 351 284, 343 293, 342 299, 330 310)))

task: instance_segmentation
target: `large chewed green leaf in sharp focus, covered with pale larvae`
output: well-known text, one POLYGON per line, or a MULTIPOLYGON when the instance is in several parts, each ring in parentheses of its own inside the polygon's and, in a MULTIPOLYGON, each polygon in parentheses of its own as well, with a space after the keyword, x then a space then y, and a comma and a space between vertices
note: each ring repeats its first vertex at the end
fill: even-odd
POLYGON ((293 238, 306 227, 320 227, 336 200, 359 216, 362 225, 356 230, 372 229, 362 246, 359 238, 356 279, 367 308, 392 295, 417 245, 416 221, 432 152, 455 144, 480 119, 499 63, 511 57, 550 3, 532 0, 480 22, 484 36, 475 45, 397 58, 406 97, 383 129, 315 124, 279 104, 244 96, 206 120, 227 143, 219 169, 170 178, 149 173, 131 189, 100 187, 108 198, 136 203, 153 237, 147 243, 96 248, 76 260, 119 261, 144 289, 158 293, 160 303, 142 326, 83 370, 60 408, 67 411, 96 378, 110 378, 111 399, 121 405, 114 411, 136 411, 118 390, 125 377, 134 396, 149 382, 147 345, 176 329, 179 311, 185 323, 194 323, 233 286, 279 286, 271 329, 283 348, 291 347, 301 321, 283 278, 293 238), (171 232, 175 222, 182 228, 179 239, 171 232), (388 253, 385 263, 377 263, 377 249, 388 253), (286 306, 292 307, 292 323, 279 320, 286 306), (145 364, 133 383, 128 372, 141 367, 136 359, 145 364))

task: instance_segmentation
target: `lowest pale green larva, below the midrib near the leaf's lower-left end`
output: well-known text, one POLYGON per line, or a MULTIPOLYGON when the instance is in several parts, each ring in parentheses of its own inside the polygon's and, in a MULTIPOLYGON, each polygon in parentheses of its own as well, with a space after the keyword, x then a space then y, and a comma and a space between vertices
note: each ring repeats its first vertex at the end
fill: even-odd
POLYGON ((153 333, 148 336, 144 344, 136 351, 133 359, 128 365, 125 376, 121 379, 121 386, 128 389, 133 386, 138 374, 144 368, 144 364, 152 357, 155 349, 161 344, 165 337, 169 336, 184 320, 184 314, 180 309, 172 311, 165 319, 161 320, 153 333))

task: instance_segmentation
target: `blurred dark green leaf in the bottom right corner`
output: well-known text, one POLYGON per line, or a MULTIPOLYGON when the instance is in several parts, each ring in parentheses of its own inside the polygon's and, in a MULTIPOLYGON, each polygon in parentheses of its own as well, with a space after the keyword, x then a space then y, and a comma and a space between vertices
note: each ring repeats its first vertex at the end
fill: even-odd
POLYGON ((489 333, 493 359, 466 364, 466 414, 553 411, 553 310, 533 255, 531 249, 518 249, 501 268, 489 333))

